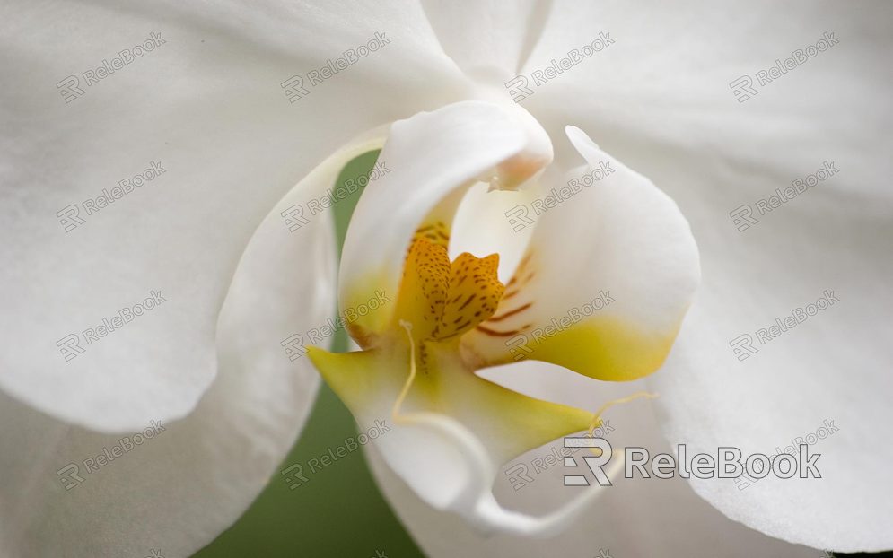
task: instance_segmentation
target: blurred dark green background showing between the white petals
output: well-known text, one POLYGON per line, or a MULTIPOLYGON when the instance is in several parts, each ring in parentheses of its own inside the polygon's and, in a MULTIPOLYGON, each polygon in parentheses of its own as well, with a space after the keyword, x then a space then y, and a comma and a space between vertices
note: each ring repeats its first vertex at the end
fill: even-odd
MULTIPOLYGON (((377 158, 378 152, 371 152, 348 163, 338 177, 337 188, 345 188, 346 179, 368 173, 377 158)), ((333 206, 339 247, 362 190, 358 188, 333 206)), ((336 312, 332 309, 332 316, 336 312)), ((334 350, 347 350, 344 330, 337 332, 334 350)), ((279 474, 293 463, 319 458, 328 448, 356 434, 354 418, 323 383, 299 440, 267 488, 235 525, 194 557, 372 558, 376 551, 388 558, 424 556, 381 496, 362 450, 308 476, 309 482, 294 490, 279 474)))

